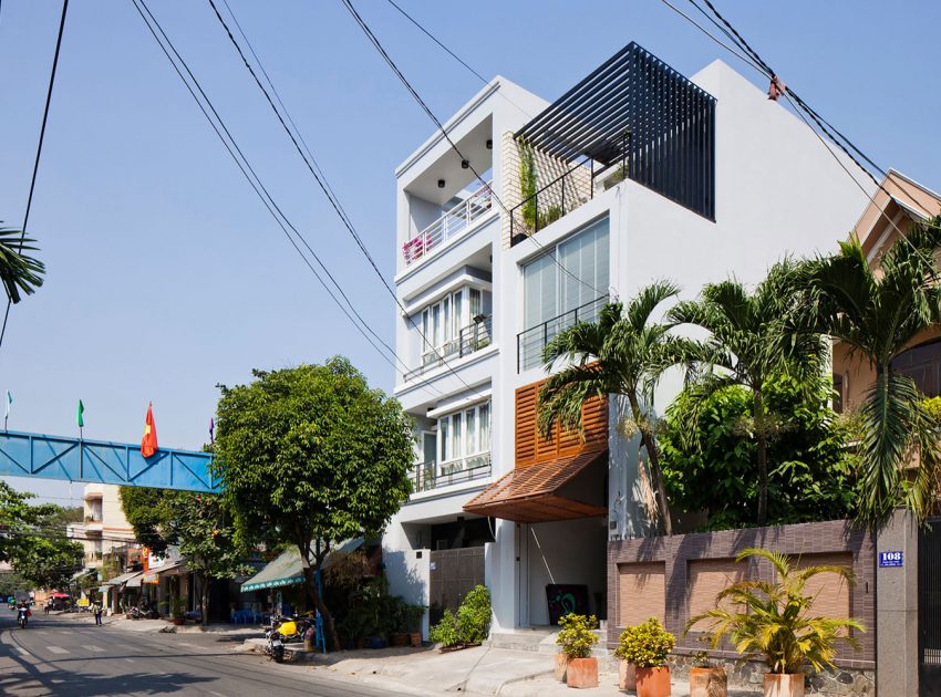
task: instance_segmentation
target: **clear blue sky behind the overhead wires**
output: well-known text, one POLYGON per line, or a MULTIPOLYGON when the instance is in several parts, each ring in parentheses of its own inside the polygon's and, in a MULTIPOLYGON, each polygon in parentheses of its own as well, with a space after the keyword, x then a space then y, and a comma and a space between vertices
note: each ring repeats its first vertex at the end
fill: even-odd
MULTIPOLYGON (((684 9, 683 0, 675 0, 684 9)), ((366 246, 391 281, 394 167, 432 124, 339 0, 229 0, 366 246)), ((432 110, 480 86, 384 0, 354 2, 432 110)), ((401 0, 485 76, 552 100, 630 41, 685 74, 752 69, 659 0, 401 0)), ((208 2, 152 10, 266 185, 392 342, 393 304, 343 230, 208 2)), ((782 77, 876 162, 941 188, 941 3, 721 1, 782 77)), ((19 225, 61 3, 0 14, 0 219, 19 225)), ((48 266, 0 348, 10 428, 136 441, 148 400, 166 446, 196 448, 217 383, 343 353, 391 389, 392 368, 332 304, 255 198, 130 0, 71 4, 30 233, 48 266)), ((834 230, 835 239, 844 231, 834 230)), ((782 253, 786 250, 782 249, 782 253)), ((680 279, 682 281, 682 279, 680 279)), ((15 482, 22 487, 22 480, 15 482)), ((30 489, 68 497, 68 483, 30 489)), ((81 487, 73 487, 81 495, 81 487)), ((64 502, 56 499, 59 502, 64 502)))

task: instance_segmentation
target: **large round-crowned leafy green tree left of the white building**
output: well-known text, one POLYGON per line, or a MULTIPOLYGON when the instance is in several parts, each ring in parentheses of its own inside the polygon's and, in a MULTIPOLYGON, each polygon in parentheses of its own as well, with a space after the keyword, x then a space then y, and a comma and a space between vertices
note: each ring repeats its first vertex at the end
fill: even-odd
POLYGON ((339 648, 314 573, 338 543, 378 534, 407 501, 412 423, 343 357, 254 375, 220 385, 215 474, 237 537, 298 547, 308 597, 339 648))

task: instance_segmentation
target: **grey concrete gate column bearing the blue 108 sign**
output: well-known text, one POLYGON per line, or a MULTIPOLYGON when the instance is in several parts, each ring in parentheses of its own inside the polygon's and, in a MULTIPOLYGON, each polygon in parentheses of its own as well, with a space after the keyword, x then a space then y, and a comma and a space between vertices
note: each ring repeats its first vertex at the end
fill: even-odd
POLYGON ((897 510, 876 537, 876 694, 918 695, 918 523, 897 510), (902 552, 902 566, 879 566, 902 552))

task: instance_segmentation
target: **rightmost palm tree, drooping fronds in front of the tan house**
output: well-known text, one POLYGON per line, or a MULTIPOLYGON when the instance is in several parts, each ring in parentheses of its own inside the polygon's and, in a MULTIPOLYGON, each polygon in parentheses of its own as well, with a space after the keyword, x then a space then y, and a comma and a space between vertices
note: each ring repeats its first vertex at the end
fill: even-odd
POLYGON ((868 524, 885 521, 898 504, 924 518, 935 491, 941 464, 935 424, 922 406, 924 395, 892 361, 941 321, 939 223, 941 217, 913 226, 885 253, 878 271, 858 239, 808 263, 811 320, 876 372, 858 407, 864 456, 858 518, 868 524), (918 470, 909 480, 902 470, 916 452, 918 470))

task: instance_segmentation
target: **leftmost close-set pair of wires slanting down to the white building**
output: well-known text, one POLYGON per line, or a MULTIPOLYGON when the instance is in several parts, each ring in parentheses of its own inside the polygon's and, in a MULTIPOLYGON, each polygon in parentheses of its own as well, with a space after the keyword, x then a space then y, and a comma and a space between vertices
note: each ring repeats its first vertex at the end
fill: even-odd
POLYGON ((383 357, 383 360, 385 360, 387 363, 390 363, 390 365, 392 365, 392 367, 394 370, 399 370, 397 366, 395 366, 395 364, 392 363, 392 361, 389 358, 389 356, 380 348, 380 346, 376 345, 376 343, 372 339, 370 339, 369 335, 366 335, 363 327, 365 327, 366 331, 369 331, 371 334, 373 334, 373 336, 375 336, 375 340, 378 342, 380 342, 380 344, 382 346, 384 346, 386 348, 386 351, 389 351, 389 353, 392 356, 394 356, 395 360, 397 360, 402 366, 407 368, 407 366, 405 366, 405 364, 401 361, 401 358, 399 358, 399 356, 395 354, 395 351, 391 346, 389 346, 389 344, 385 343, 372 330, 372 327, 369 325, 369 323, 356 312, 356 310, 353 306, 352 302, 350 301, 349 297, 347 297, 347 294, 343 292, 342 288, 340 287, 339 282, 335 280, 333 274, 330 272, 330 270, 327 268, 327 266, 323 264, 323 262, 320 260, 319 256, 311 249, 310 245, 308 245, 303 235, 301 235, 300 231, 291 223, 290 219, 281 210, 281 208, 278 206, 277 201, 275 201, 273 197, 268 191, 263 181, 260 179, 260 177, 258 176, 258 174, 255 171, 254 167, 251 166, 250 162, 245 156, 241 148, 238 146, 237 141, 235 139, 235 137, 229 132, 224 119, 221 118, 218 111, 213 105, 208 95, 203 90, 201 85, 199 84, 199 81, 196 79, 196 76, 193 74, 193 72, 189 69, 186 61, 183 59, 183 56, 176 50, 176 46, 173 44, 173 41, 169 39, 169 37, 163 30, 163 27, 159 24, 156 17, 154 17, 154 14, 151 12, 149 8, 146 6, 146 2, 144 2, 144 0, 132 0, 132 2, 134 3, 134 8, 137 10, 137 13, 141 15, 142 20, 144 21, 145 25, 149 30, 151 34, 154 37, 154 40, 159 45, 164 55, 170 62, 170 65, 173 65, 175 72, 177 73, 179 79, 183 81, 184 85, 186 86, 189 94, 193 96, 197 106, 199 106, 199 110, 203 112, 203 115, 209 122, 209 124, 213 127, 213 129, 215 131, 216 135, 219 137, 223 145, 226 147, 226 150, 229 153, 230 157, 236 163, 236 166, 238 166, 239 170, 242 173, 246 180, 251 186, 252 190, 255 190, 256 195, 259 197, 259 199, 262 201, 265 207, 268 209, 269 214, 275 219, 276 223, 285 232, 285 236, 288 238, 291 246, 294 248, 294 250, 301 257, 304 264, 308 267, 308 269, 311 271, 311 273, 314 275, 314 278, 317 278, 317 280, 321 283, 321 285, 324 288, 324 290, 328 292, 328 294, 331 297, 331 299, 337 303, 337 305, 341 309, 341 311, 343 311, 343 313, 347 315, 347 318, 350 320, 350 322, 353 324, 353 326, 376 350, 376 352, 383 357), (138 2, 141 3, 139 6, 137 4, 138 2), (141 7, 144 8, 143 11, 142 11, 141 7), (146 11, 146 15, 144 14, 144 11, 146 11), (153 21, 153 27, 151 25, 151 22, 148 21, 148 17, 149 17, 151 21, 153 21), (154 30, 154 27, 156 27, 156 31, 154 30), (157 31, 159 32, 159 35, 157 34, 157 31), (184 76, 179 66, 174 61, 174 59, 170 55, 167 48, 164 45, 164 42, 161 40, 161 37, 163 37, 164 41, 166 42, 166 46, 169 46, 169 51, 173 51, 173 55, 176 56, 177 61, 179 61, 179 64, 186 71, 187 75, 189 75, 189 79, 193 81, 193 85, 190 85, 189 81, 187 81, 186 76, 184 76), (199 96, 197 96, 196 92, 194 91, 194 85, 196 87, 196 91, 198 91, 199 94, 203 96, 203 100, 205 100, 205 105, 204 105, 203 101, 200 101, 199 96), (211 111, 216 121, 214 121, 214 118, 209 115, 209 112, 206 110, 206 106, 208 106, 209 111, 211 111), (220 131, 220 128, 221 128, 221 131, 220 131), (223 135, 223 133, 225 133, 225 136, 223 135), (334 294, 334 292, 330 289, 330 287, 327 284, 327 282, 323 280, 323 278, 320 275, 320 273, 318 273, 318 271, 310 263, 310 260, 307 258, 307 256, 303 253, 303 251, 300 249, 297 241, 292 237, 291 231, 294 233, 294 236, 297 236, 297 238, 301 241, 301 243, 308 249, 310 254, 317 261, 318 266, 321 268, 321 270, 327 274, 327 277, 334 284, 334 287, 337 288, 337 291, 347 301, 347 303, 349 305, 349 310, 339 300, 337 294, 334 294), (354 319, 354 315, 355 315, 356 319, 359 319, 359 322, 356 321, 356 319, 354 319), (361 326, 361 324, 362 324, 362 326, 361 326))

